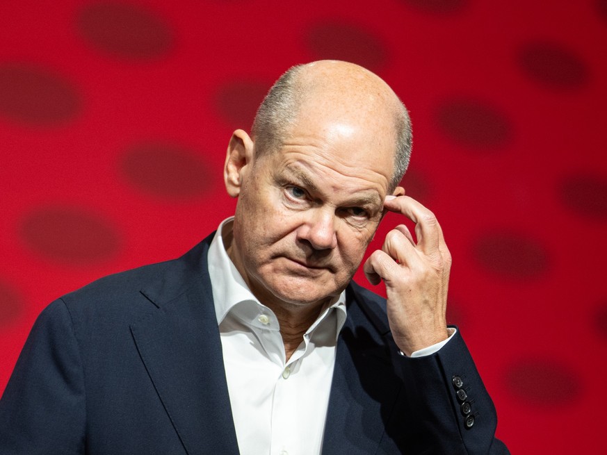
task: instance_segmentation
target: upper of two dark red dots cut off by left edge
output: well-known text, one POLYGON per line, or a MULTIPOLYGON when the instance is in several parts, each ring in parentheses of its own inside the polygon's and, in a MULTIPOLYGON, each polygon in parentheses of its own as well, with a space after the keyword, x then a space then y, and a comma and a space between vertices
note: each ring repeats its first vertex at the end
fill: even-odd
POLYGON ((76 88, 62 76, 25 63, 0 66, 0 116, 32 126, 56 126, 80 110, 76 88))

